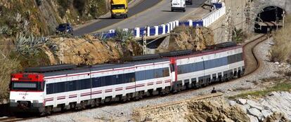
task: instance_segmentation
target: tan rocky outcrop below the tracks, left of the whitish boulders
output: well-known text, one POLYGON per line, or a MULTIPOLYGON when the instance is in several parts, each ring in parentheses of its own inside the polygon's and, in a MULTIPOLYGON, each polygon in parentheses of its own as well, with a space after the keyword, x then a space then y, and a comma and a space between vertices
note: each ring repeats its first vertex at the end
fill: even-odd
POLYGON ((250 121, 247 114, 245 114, 240 107, 231 107, 228 105, 227 101, 222 98, 185 101, 163 104, 162 107, 154 106, 138 109, 138 112, 134 112, 134 118, 138 119, 136 121, 145 121, 145 118, 150 121, 250 121), (141 120, 141 118, 143 119, 141 120))

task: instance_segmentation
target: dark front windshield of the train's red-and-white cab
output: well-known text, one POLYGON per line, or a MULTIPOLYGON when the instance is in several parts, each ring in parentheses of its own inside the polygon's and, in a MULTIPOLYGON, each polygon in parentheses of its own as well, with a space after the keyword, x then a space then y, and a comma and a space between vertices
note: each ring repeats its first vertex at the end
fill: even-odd
POLYGON ((43 82, 12 81, 11 90, 44 90, 43 82))

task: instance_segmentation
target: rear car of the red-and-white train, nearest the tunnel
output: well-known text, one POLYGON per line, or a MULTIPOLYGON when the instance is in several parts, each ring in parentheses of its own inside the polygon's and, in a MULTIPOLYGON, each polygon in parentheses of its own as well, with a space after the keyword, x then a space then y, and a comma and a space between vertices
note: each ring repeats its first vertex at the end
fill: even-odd
POLYGON ((234 76, 240 77, 245 72, 243 48, 240 46, 173 58, 177 76, 174 90, 199 88, 209 83, 228 81, 234 76))

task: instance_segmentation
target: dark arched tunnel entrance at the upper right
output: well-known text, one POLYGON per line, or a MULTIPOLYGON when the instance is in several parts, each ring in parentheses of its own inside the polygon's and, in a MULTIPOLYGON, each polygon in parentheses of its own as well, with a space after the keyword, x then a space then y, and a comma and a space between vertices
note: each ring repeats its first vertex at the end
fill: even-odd
POLYGON ((261 13, 257 14, 256 22, 254 24, 254 32, 257 33, 266 33, 268 28, 270 31, 281 27, 283 22, 283 9, 277 6, 268 6, 261 10, 261 13), (266 23, 267 22, 267 23, 266 23), (269 26, 271 27, 269 27, 269 26))

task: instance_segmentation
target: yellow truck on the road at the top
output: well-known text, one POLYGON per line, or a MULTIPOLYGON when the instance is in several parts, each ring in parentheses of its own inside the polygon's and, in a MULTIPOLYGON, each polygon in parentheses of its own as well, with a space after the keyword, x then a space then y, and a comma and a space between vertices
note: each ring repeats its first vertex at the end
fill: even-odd
POLYGON ((127 0, 111 1, 111 18, 127 18, 128 11, 127 0))

